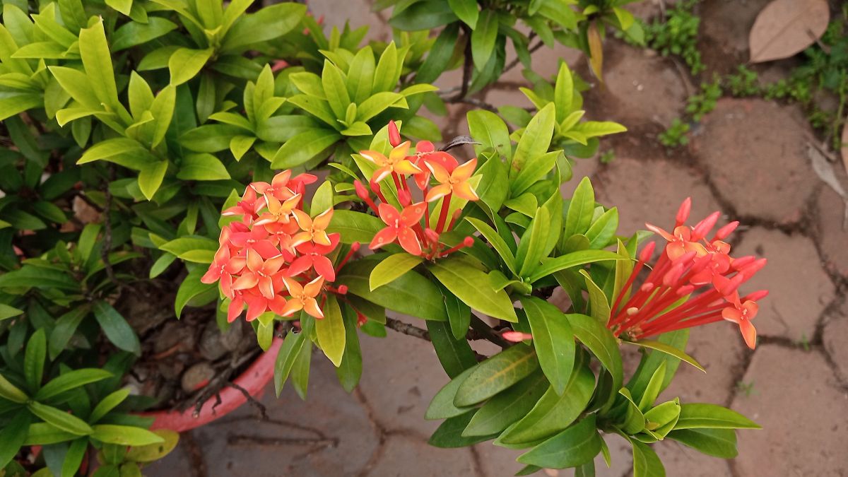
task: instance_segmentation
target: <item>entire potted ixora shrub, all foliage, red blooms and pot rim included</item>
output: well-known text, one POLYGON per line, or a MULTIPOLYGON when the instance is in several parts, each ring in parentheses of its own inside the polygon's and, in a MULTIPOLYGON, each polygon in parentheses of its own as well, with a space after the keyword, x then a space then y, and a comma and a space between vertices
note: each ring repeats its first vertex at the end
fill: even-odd
POLYGON ((566 65, 529 69, 561 42, 600 74, 607 28, 639 39, 625 3, 380 2, 400 30, 363 44, 298 3, 4 1, 0 473, 140 474, 272 375, 305 397, 314 347, 354 389, 359 333, 386 328, 432 341, 450 378, 435 446, 494 440, 527 449, 526 472, 583 475, 600 433, 633 443, 637 475, 662 473, 649 444, 666 438, 734 456, 756 424, 655 401, 698 366, 689 328, 731 321, 756 344, 766 294, 738 289, 765 262, 728 255, 717 215, 684 225, 688 201, 649 227, 654 254, 588 179, 563 198, 572 161, 625 129, 583 117, 566 65), (421 108, 519 63, 534 108, 485 104, 437 148, 421 108), (459 87, 430 84, 460 67, 459 87), (620 345, 644 350, 627 380, 620 345))

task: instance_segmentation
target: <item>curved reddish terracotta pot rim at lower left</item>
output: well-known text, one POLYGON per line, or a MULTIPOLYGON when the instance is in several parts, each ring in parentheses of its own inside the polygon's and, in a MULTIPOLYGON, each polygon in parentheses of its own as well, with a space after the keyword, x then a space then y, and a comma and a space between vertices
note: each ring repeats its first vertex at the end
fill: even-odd
MULTIPOLYGON (((260 354, 244 370, 244 373, 233 380, 233 383, 248 391, 250 396, 261 396, 262 391, 265 390, 265 385, 274 378, 274 362, 276 361, 277 351, 280 350, 281 345, 282 339, 275 337, 268 351, 260 354)), ((215 407, 215 410, 212 407, 215 406, 217 399, 213 396, 204 402, 197 417, 193 415, 193 407, 182 412, 152 411, 140 412, 138 415, 145 418, 153 418, 153 424, 150 426, 150 429, 171 429, 176 432, 185 432, 209 424, 215 419, 222 418, 248 401, 242 394, 242 391, 230 386, 220 390, 219 395, 220 404, 215 407)))

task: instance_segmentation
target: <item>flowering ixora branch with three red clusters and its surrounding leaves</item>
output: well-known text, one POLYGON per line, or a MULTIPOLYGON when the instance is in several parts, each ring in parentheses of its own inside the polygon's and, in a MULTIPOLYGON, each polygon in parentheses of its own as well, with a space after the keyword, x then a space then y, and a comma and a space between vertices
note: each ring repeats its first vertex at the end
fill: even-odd
POLYGON ((671 232, 648 224, 666 241, 653 261, 656 243, 637 252, 643 234, 616 235, 617 211, 595 203, 588 179, 561 197, 561 152, 547 152, 552 105, 516 144, 497 116, 469 120, 476 159, 460 164, 428 141, 413 148, 391 122, 354 154, 358 171, 344 169, 354 194, 324 182, 307 212, 304 184, 315 177, 284 171, 225 210, 236 220, 204 282, 220 281, 229 320, 247 308, 260 344, 277 320, 296 320, 300 333, 276 358, 277 394, 291 379, 305 395, 313 345, 352 390, 362 371, 356 328, 397 328, 394 311, 426 320, 427 332, 414 334, 432 341, 451 378, 427 409, 444 419, 434 446, 527 449, 520 474, 594 474, 594 457, 610 458, 601 432, 633 445, 636 475, 664 474, 649 446, 664 439, 734 457, 734 429, 756 424, 717 405, 656 400, 681 361, 700 368, 683 351, 689 328, 733 322, 756 345, 751 319, 767 292, 739 287, 766 261, 729 255, 723 239, 738 222, 711 233, 716 212, 687 226, 686 199, 671 232), (360 244, 374 253, 357 254, 360 244), (555 286, 572 299, 566 312, 546 300, 555 286), (476 356, 474 338, 503 351, 476 356), (620 345, 648 350, 626 383, 620 345))

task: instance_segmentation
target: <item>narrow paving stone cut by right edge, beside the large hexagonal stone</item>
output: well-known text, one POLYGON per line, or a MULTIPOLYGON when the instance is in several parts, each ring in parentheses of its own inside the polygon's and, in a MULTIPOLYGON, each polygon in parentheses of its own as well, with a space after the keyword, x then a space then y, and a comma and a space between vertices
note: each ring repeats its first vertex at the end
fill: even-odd
MULTIPOLYGON (((848 177, 839 164, 834 165, 836 177, 848 188, 848 177)), ((817 241, 832 272, 848 277, 848 228, 845 227, 845 201, 834 189, 822 185, 816 200, 817 241)))

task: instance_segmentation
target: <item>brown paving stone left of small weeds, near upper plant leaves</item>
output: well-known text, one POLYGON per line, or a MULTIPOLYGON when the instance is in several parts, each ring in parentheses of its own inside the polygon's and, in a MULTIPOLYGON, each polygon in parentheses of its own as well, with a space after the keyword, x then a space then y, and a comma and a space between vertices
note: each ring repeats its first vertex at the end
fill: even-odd
MULTIPOLYGON (((598 83, 590 76, 583 79, 598 83)), ((668 59, 652 50, 606 42, 604 81, 594 85, 594 94, 584 106, 589 118, 625 125, 653 121, 667 126, 683 114, 687 96, 683 79, 668 59), (595 109, 603 109, 605 117, 594 114, 595 109)))

